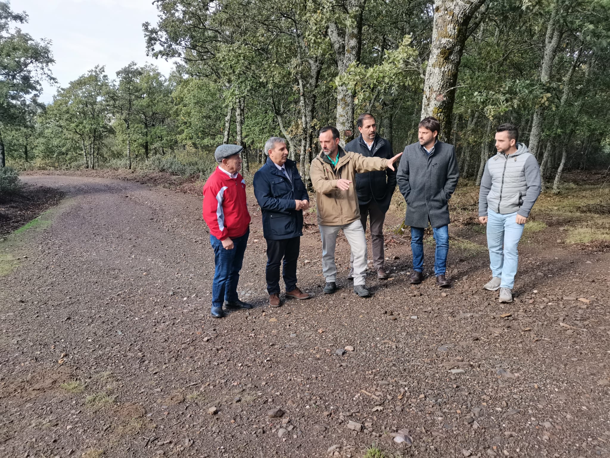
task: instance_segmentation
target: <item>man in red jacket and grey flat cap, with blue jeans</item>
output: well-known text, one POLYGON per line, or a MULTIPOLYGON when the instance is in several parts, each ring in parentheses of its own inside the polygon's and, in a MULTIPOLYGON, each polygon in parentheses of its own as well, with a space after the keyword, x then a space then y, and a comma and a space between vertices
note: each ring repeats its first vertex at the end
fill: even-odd
POLYGON ((246 182, 239 171, 239 145, 220 145, 214 154, 218 167, 203 186, 203 219, 210 228, 214 249, 212 316, 223 318, 226 307, 252 308, 237 297, 237 282, 250 233, 246 182))

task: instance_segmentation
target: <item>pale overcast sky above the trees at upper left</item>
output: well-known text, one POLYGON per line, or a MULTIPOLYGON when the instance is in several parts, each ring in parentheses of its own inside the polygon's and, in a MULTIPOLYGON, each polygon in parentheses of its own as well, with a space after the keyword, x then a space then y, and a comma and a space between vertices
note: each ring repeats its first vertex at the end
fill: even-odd
MULTIPOLYGON (((98 64, 106 65, 110 79, 132 60, 157 65, 165 75, 173 67, 146 57, 142 23, 157 23, 152 0, 12 0, 10 7, 29 15, 23 31, 52 41, 52 72, 62 87, 98 64)), ((44 87, 40 100, 49 103, 57 88, 44 87)))

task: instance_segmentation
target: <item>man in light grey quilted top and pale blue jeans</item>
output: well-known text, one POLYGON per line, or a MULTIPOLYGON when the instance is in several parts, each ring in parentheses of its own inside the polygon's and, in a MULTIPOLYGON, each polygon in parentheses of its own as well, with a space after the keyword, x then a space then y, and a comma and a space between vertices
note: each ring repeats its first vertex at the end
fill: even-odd
POLYGON ((516 126, 498 126, 495 139, 498 154, 485 164, 479 190, 479 222, 487 224, 492 270, 492 279, 483 288, 500 289, 500 302, 512 302, 519 262, 517 245, 540 195, 540 167, 528 147, 517 143, 516 126))

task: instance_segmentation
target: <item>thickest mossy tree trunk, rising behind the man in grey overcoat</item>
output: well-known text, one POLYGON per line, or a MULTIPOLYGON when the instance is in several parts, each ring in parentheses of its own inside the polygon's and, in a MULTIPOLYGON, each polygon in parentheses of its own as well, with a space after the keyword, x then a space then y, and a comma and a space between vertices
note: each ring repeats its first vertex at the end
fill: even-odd
POLYGON ((436 0, 432 43, 423 85, 422 118, 440 122, 439 137, 448 140, 459 64, 468 38, 468 24, 485 0, 436 0))

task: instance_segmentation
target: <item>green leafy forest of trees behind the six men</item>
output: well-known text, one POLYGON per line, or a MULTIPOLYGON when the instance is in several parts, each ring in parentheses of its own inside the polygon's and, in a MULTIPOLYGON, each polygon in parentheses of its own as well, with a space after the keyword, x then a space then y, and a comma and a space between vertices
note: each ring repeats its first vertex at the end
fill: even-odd
POLYGON ((246 174, 270 136, 307 178, 317 129, 347 142, 362 112, 395 151, 436 116, 462 179, 478 184, 495 126, 519 126, 545 187, 610 164, 608 0, 156 0, 148 55, 171 75, 100 62, 38 101, 52 43, 0 3, 0 155, 25 169, 148 168, 207 175, 211 151, 243 145, 246 174))

